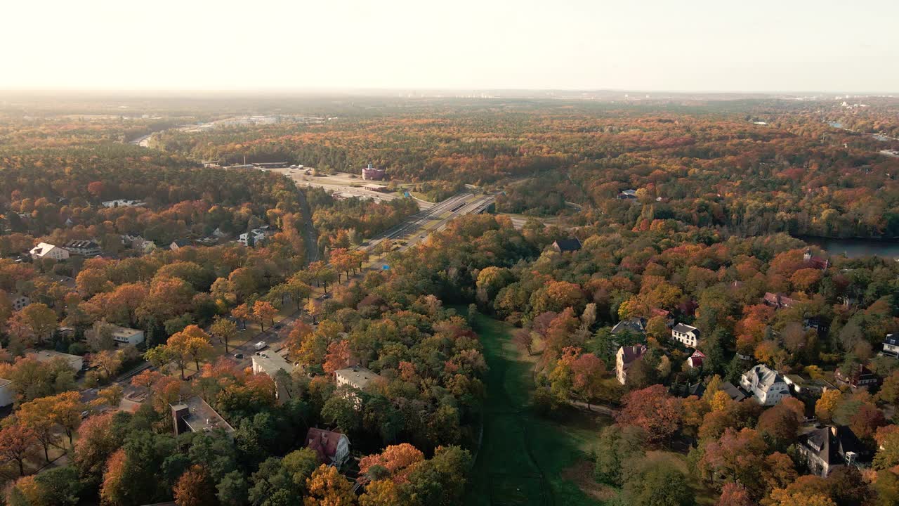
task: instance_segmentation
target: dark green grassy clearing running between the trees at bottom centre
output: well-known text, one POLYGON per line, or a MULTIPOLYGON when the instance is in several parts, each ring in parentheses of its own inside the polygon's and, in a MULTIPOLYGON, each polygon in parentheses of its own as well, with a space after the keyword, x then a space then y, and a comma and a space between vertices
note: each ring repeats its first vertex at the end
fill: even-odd
POLYGON ((475 324, 490 370, 484 438, 469 478, 466 504, 601 504, 572 480, 580 476, 585 488, 601 495, 602 487, 592 483, 591 466, 585 460, 599 429, 610 420, 574 410, 554 420, 535 415, 528 408, 533 364, 512 345, 512 327, 484 315, 478 315, 475 324))

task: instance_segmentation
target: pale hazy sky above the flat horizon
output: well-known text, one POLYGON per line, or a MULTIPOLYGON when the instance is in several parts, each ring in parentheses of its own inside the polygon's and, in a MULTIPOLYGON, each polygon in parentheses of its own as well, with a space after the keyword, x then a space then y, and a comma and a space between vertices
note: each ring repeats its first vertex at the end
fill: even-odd
POLYGON ((899 92, 899 1, 34 0, 0 89, 899 92))

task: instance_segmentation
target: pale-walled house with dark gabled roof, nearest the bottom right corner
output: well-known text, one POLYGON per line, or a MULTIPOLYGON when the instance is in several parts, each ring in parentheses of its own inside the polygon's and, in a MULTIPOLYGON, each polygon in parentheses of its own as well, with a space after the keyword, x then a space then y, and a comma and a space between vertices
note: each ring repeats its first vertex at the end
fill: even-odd
POLYGON ((799 454, 806 457, 809 470, 822 477, 842 465, 868 461, 868 450, 849 427, 823 427, 799 436, 799 454))

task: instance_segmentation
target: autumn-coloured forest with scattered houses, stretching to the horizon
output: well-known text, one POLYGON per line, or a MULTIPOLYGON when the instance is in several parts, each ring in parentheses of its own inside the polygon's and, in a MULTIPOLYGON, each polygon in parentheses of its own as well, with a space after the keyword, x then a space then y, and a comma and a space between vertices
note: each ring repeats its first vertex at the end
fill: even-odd
POLYGON ((899 263, 799 239, 899 235, 897 143, 870 135, 896 104, 868 102, 261 100, 326 120, 199 131, 248 103, 5 109, 0 499, 895 504, 899 263), (244 157, 495 212, 399 248, 375 238, 414 199, 244 157))

